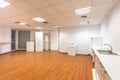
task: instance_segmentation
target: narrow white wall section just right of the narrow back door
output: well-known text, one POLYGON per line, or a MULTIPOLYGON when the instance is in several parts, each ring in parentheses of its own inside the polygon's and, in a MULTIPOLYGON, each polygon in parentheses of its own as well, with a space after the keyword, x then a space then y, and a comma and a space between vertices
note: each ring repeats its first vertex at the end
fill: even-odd
POLYGON ((58 30, 51 30, 51 50, 58 50, 58 30))

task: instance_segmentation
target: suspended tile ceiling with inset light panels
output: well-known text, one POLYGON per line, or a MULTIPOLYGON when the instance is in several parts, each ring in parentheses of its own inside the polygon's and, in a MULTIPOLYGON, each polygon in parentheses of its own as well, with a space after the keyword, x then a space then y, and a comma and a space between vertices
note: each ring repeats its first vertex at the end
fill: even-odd
POLYGON ((52 28, 76 27, 100 24, 110 12, 117 0, 5 0, 11 3, 0 8, 0 26, 14 29, 34 29, 35 27, 52 28), (76 9, 92 7, 87 18, 81 18, 74 12, 76 9), (45 19, 48 24, 32 20, 34 17, 45 19), (21 21, 30 26, 20 26, 14 22, 21 21), (90 22, 89 24, 87 22, 90 22))

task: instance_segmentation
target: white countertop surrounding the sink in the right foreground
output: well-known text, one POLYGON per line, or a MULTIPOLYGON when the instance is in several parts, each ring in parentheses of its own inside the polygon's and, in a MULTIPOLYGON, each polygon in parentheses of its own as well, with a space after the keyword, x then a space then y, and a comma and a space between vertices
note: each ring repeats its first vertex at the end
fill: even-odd
POLYGON ((120 80, 120 55, 100 54, 93 49, 112 80, 120 80))

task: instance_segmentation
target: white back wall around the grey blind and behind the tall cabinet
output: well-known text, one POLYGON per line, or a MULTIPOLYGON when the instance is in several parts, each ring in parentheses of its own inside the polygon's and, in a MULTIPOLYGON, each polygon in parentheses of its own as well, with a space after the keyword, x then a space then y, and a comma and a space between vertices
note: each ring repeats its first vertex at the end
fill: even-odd
MULTIPOLYGON (((18 31, 16 30, 16 49, 18 49, 18 31)), ((22 31, 22 30, 21 30, 22 31)), ((25 31, 25 30, 23 30, 25 31)), ((44 34, 50 35, 50 48, 51 50, 58 50, 58 30, 28 30, 31 31, 31 39, 30 41, 35 41, 35 32, 36 31, 43 31, 44 34)))

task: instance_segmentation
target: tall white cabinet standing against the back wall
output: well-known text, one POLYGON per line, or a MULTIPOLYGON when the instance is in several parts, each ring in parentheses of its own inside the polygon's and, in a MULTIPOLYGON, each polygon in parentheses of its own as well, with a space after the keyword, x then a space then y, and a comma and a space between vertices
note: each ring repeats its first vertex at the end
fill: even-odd
POLYGON ((35 51, 43 51, 43 32, 35 32, 35 51))

